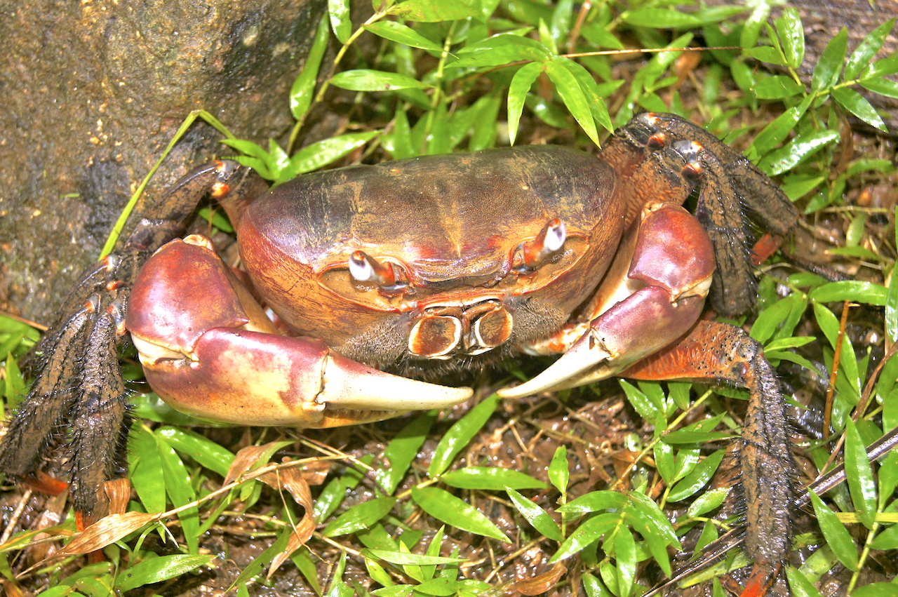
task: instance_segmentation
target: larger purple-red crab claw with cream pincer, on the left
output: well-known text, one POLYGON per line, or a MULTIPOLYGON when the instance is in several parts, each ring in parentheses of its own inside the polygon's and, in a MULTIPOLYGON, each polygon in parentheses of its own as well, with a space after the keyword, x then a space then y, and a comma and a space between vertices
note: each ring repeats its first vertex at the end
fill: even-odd
POLYGON ((147 262, 127 322, 150 386, 195 417, 340 426, 445 408, 472 394, 383 373, 332 352, 321 340, 278 335, 198 235, 170 242, 147 262))

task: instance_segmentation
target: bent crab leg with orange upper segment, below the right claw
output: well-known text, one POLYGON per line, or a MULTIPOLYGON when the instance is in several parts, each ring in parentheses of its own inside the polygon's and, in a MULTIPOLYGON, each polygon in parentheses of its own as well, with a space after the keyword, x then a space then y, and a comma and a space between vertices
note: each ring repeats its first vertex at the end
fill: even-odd
POLYGON ((634 364, 621 376, 705 379, 748 390, 739 454, 748 508, 745 549, 760 572, 774 573, 792 540, 789 510, 795 500, 796 465, 786 433, 785 400, 762 347, 735 326, 699 321, 679 343, 634 364))

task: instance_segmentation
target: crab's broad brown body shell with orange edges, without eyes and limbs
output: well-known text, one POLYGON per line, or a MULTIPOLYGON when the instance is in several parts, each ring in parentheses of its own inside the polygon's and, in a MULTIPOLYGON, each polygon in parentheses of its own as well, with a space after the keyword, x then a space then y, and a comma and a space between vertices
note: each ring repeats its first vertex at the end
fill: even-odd
POLYGON ((614 181, 605 162, 551 146, 325 171, 249 206, 242 263, 292 329, 366 364, 519 347, 568 321, 608 267, 625 225, 614 181), (555 218, 563 249, 515 269, 555 218), (357 250, 399 268, 400 287, 354 279, 357 250))

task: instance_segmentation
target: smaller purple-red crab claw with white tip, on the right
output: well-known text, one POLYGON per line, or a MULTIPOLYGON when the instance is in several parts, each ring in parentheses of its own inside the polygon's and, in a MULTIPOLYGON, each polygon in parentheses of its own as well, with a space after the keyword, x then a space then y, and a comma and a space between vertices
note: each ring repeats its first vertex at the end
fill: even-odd
MULTIPOLYGON (((612 272, 615 269, 612 265, 612 272)), ((611 377, 673 343, 699 319, 713 272, 713 250, 699 222, 676 204, 649 204, 629 271, 608 294, 610 306, 600 307, 592 320, 530 347, 534 353, 565 352, 529 382, 500 390, 499 395, 521 398, 611 377)))

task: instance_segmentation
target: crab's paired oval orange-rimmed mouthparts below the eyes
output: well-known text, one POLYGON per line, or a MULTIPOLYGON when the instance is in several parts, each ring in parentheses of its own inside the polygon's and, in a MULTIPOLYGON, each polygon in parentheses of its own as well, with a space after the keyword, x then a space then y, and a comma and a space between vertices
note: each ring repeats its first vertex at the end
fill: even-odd
POLYGON ((433 305, 409 332, 409 353, 420 358, 448 359, 480 355, 510 336, 514 320, 496 299, 471 305, 433 305))

